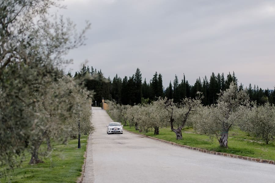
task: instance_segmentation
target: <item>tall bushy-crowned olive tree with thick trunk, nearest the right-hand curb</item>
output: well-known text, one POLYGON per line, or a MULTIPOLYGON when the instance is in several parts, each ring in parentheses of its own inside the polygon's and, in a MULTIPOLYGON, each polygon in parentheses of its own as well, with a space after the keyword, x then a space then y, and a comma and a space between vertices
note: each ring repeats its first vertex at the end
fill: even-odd
POLYGON ((228 132, 240 118, 249 105, 246 91, 238 90, 231 83, 229 89, 219 94, 217 104, 200 107, 197 110, 195 128, 203 133, 215 135, 220 147, 228 147, 228 132))

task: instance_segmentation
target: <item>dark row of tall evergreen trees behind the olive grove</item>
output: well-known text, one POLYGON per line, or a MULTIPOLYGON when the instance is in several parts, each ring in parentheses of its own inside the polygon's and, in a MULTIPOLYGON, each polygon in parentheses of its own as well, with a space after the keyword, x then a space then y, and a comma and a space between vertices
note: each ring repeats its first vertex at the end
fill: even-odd
MULTIPOLYGON (((181 81, 175 75, 173 83, 170 81, 166 89, 163 87, 162 75, 157 72, 155 72, 149 82, 146 81, 146 78, 142 82, 142 74, 139 68, 129 78, 125 76, 122 79, 116 74, 113 79, 110 79, 110 77, 104 77, 101 69, 97 71, 93 67, 89 68, 89 66, 83 65, 81 71, 75 72, 74 78, 83 77, 86 74, 97 78, 85 81, 87 89, 95 92, 94 100, 98 103, 101 102, 102 98, 116 100, 118 104, 123 105, 150 103, 151 101, 156 101, 159 97, 167 97, 167 99, 173 99, 175 103, 179 103, 185 98, 194 99, 197 92, 201 92, 204 96, 202 104, 206 106, 215 104, 218 99, 218 93, 229 89, 231 82, 238 85, 238 79, 234 72, 233 74, 229 72, 226 76, 224 73, 215 75, 212 72, 209 80, 207 76, 204 76, 203 79, 199 77, 193 85, 189 84, 188 80, 185 79, 185 75, 183 75, 181 81)), ((72 77, 70 72, 67 75, 72 77)), ((244 90, 244 85, 240 83, 238 88, 239 90, 244 90)), ((251 101, 256 101, 257 104, 264 104, 267 101, 275 104, 274 90, 263 90, 255 85, 252 88, 251 84, 246 89, 251 101)), ((93 104, 95 105, 95 102, 93 104)))

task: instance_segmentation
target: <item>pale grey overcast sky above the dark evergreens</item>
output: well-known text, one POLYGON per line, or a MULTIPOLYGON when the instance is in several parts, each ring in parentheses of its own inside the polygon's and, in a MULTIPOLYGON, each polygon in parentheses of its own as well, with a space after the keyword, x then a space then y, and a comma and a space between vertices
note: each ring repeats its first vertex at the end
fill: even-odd
POLYGON ((275 85, 275 1, 264 0, 65 0, 59 14, 83 28, 86 46, 69 53, 65 71, 86 65, 112 79, 163 76, 163 86, 185 78, 235 72, 239 83, 275 85))

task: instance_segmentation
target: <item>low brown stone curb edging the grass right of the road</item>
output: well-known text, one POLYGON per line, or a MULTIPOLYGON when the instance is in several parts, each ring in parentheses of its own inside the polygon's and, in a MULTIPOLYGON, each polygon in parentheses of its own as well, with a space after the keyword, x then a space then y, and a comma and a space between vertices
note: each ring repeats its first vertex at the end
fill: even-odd
MULTIPOLYGON (((123 130, 125 130, 125 129, 123 129, 123 130)), ((130 132, 130 133, 134 133, 134 134, 137 134, 137 135, 140 135, 140 136, 143 136, 143 137, 146 137, 148 139, 153 139, 153 140, 156 140, 156 141, 159 141, 159 142, 162 142, 162 143, 171 144, 171 145, 177 146, 177 147, 183 147, 185 149, 196 150, 196 151, 199 151, 199 152, 202 152, 202 153, 208 153, 208 154, 219 155, 219 156, 226 156, 226 157, 231 157, 231 158, 238 158, 238 159, 243 159, 243 160, 248 160, 248 161, 255 161, 255 162, 259 162, 259 163, 275 164, 275 161, 273 161, 273 160, 262 160, 262 159, 258 159, 258 158, 251 158, 251 157, 246 157, 246 156, 239 156, 239 155, 234 155, 234 154, 209 151, 209 150, 199 149, 199 148, 196 148, 196 147, 190 147, 190 146, 185 146, 185 145, 169 142, 169 141, 162 140, 162 139, 157 139, 155 137, 150 137, 150 136, 147 136, 147 135, 143 135, 143 134, 136 133, 136 132, 131 132, 131 131, 128 131, 128 130, 125 130, 125 131, 130 132)))

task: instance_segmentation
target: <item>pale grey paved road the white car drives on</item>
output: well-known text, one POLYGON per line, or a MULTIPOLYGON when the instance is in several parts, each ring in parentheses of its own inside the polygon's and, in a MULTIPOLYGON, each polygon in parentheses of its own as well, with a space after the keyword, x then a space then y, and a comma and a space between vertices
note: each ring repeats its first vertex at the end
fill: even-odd
MULTIPOLYGON (((275 165, 200 153, 129 132, 107 135, 111 119, 92 108, 83 183, 275 183, 275 165)), ((161 133, 161 131, 160 131, 161 133)))

